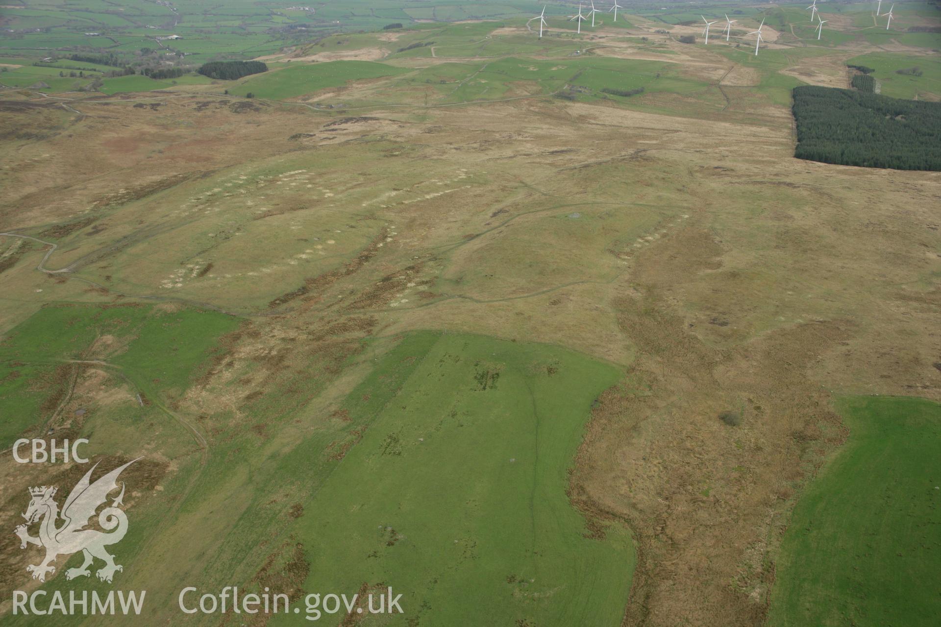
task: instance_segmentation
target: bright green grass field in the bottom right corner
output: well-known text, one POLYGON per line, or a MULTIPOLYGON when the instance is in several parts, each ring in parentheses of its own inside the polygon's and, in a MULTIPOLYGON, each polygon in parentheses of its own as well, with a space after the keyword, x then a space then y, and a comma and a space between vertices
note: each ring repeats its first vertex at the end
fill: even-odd
POLYGON ((856 397, 838 409, 850 438, 794 509, 769 625, 936 625, 941 405, 856 397))

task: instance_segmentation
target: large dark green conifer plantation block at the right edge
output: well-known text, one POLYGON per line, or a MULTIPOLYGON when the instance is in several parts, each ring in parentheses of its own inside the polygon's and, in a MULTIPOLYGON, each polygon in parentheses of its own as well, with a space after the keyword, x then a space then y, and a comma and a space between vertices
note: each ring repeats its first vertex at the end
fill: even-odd
POLYGON ((941 171, 941 102, 853 89, 793 89, 798 159, 825 164, 941 171))

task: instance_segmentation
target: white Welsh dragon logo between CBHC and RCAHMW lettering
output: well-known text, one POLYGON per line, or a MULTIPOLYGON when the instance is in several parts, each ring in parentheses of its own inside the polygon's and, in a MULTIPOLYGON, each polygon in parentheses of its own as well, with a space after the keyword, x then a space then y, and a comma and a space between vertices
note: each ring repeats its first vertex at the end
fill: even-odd
POLYGON ((127 533, 127 516, 118 508, 123 505, 121 502, 124 498, 123 481, 118 498, 112 501, 110 507, 102 509, 102 512, 98 514, 98 524, 103 529, 107 531, 115 527, 117 529, 111 533, 104 533, 97 529, 83 527, 88 525, 88 519, 95 514, 95 510, 108 500, 108 494, 118 489, 117 479, 121 471, 136 461, 127 462, 91 483, 91 472, 98 465, 96 463, 72 488, 69 498, 65 499, 61 514, 59 514, 58 504, 53 500, 53 496, 56 495, 55 487, 42 486, 29 489, 29 494, 33 499, 29 502, 26 513, 23 514, 26 524, 16 527, 16 535, 22 541, 21 549, 26 548, 26 544, 36 544, 46 549, 45 559, 40 564, 26 567, 27 571, 33 573, 33 579, 45 581, 47 572, 56 572, 56 567, 51 564, 56 561, 57 556, 71 556, 79 551, 85 554, 85 562, 79 568, 66 571, 66 579, 91 574, 88 567, 91 566, 95 557, 104 560, 104 567, 96 573, 102 581, 111 583, 115 572, 124 570, 122 566, 115 564, 115 556, 109 554, 104 548, 108 544, 119 542, 127 533), (60 516, 64 523, 56 526, 56 521, 60 516), (27 527, 40 519, 40 536, 34 538, 29 535, 27 527))

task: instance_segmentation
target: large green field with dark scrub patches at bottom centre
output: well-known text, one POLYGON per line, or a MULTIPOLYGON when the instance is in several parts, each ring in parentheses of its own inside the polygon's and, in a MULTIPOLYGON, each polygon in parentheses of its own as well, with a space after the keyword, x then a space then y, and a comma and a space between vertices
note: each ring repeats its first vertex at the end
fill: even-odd
POLYGON ((550 346, 405 337, 343 403, 365 432, 297 521, 304 588, 384 582, 423 624, 484 606, 489 624, 617 624, 630 535, 585 537, 566 469, 592 400, 618 377, 550 346))

